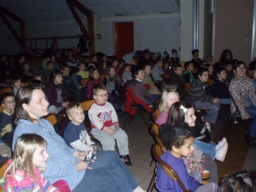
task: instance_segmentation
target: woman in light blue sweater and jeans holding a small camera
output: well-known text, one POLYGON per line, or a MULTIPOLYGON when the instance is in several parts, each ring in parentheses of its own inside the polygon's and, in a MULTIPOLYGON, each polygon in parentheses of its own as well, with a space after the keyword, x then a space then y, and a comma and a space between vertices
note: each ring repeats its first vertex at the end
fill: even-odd
POLYGON ((18 137, 26 133, 36 133, 46 140, 50 156, 44 172, 46 180, 51 183, 66 180, 74 192, 144 192, 116 152, 98 152, 96 160, 88 164, 84 161, 88 151, 67 146, 52 124, 42 118, 48 114, 48 105, 39 87, 28 85, 20 89, 16 98, 16 129, 12 142, 14 149, 18 137))

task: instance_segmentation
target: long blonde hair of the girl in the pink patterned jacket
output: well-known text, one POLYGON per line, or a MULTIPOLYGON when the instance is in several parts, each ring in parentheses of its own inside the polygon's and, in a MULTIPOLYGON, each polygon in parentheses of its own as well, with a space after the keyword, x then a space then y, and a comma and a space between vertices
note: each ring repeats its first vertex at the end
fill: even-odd
MULTIPOLYGON (((24 171, 23 177, 29 174, 33 179, 36 179, 34 174, 33 156, 36 149, 46 147, 46 140, 37 134, 23 134, 16 142, 12 163, 6 170, 7 174, 14 176, 16 170, 24 171)), ((44 168, 39 168, 44 171, 44 168)))

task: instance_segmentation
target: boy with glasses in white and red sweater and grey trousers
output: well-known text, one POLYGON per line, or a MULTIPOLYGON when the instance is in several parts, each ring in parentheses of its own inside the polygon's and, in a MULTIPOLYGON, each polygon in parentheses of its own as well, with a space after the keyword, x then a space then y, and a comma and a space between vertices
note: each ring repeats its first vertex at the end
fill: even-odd
POLYGON ((106 86, 96 84, 92 88, 92 96, 96 101, 88 111, 91 133, 100 141, 104 151, 114 151, 117 143, 121 160, 124 164, 132 166, 128 155, 128 136, 119 127, 118 116, 113 105, 107 102, 108 90, 106 86))

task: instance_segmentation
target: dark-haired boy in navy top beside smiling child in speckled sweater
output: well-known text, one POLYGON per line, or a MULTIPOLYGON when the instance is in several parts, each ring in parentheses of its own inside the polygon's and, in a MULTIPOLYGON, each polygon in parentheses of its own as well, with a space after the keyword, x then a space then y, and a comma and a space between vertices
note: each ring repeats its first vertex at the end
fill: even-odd
POLYGON ((213 97, 219 98, 221 104, 230 104, 229 94, 226 91, 226 84, 223 80, 226 79, 226 69, 224 67, 218 67, 214 70, 214 74, 217 77, 214 83, 210 87, 210 91, 213 97))

